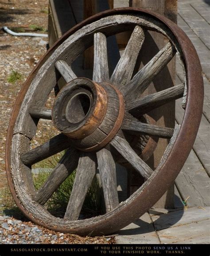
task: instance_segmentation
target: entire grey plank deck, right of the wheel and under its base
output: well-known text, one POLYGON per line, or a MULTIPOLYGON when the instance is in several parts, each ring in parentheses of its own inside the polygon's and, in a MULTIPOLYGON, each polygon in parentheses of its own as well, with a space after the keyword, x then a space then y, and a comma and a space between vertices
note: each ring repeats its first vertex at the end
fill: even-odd
MULTIPOLYGON (((178 25, 191 39, 202 64, 205 96, 198 136, 175 180, 176 209, 150 210, 148 215, 154 228, 145 228, 145 223, 141 222, 145 221, 144 215, 137 222, 139 227, 136 223, 130 224, 120 231, 118 244, 210 243, 210 0, 178 0, 178 25), (186 199, 189 208, 184 209, 182 201, 186 199)), ((176 84, 182 83, 183 70, 179 60, 176 74, 176 84)), ((178 124, 181 124, 183 114, 181 99, 176 100, 178 124)))

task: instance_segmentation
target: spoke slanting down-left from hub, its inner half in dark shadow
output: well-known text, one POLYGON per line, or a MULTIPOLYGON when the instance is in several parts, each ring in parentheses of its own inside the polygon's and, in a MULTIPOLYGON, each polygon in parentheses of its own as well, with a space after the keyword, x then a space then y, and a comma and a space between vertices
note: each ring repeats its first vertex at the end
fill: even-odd
POLYGON ((69 138, 61 133, 48 140, 46 143, 23 153, 20 158, 23 164, 32 165, 69 148, 70 144, 71 141, 69 138))

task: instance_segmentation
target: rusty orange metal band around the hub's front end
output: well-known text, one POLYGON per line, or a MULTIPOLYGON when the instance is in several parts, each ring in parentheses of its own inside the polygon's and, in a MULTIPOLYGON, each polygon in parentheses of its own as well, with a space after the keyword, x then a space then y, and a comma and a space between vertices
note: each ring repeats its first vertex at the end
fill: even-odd
MULTIPOLYGON (((76 129, 72 132, 63 132, 58 129, 60 132, 63 132, 66 136, 69 136, 70 138, 74 138, 74 139, 82 139, 90 135, 91 133, 93 133, 103 121, 106 114, 106 110, 107 110, 108 98, 107 98, 105 89, 101 85, 87 78, 76 78, 72 80, 69 84, 72 84, 75 81, 76 82, 78 81, 79 83, 82 84, 82 81, 86 81, 86 80, 88 80, 89 83, 91 83, 96 90, 96 103, 95 103, 93 112, 90 114, 87 113, 87 116, 89 117, 85 121, 85 124, 82 124, 82 126, 76 127, 76 129)), ((62 90, 65 87, 66 86, 64 86, 62 90)), ((59 97, 60 93, 62 93, 62 90, 58 93, 57 97, 59 97)), ((55 124, 54 126, 56 127, 55 124)))

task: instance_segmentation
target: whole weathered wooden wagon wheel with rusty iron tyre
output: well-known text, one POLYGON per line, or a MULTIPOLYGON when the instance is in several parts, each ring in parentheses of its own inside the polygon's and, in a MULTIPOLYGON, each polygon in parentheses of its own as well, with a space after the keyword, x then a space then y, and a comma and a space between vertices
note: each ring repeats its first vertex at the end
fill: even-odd
POLYGON ((170 20, 154 12, 121 8, 83 21, 45 54, 28 77, 14 106, 8 129, 6 168, 16 204, 35 223, 60 232, 96 235, 123 228, 152 207, 175 180, 194 143, 202 114, 202 97, 198 56, 191 41, 170 20), (127 30, 133 31, 131 39, 109 77, 106 37, 127 30), (163 34, 168 43, 132 77, 146 30, 163 34), (78 78, 70 64, 92 44, 93 79, 78 78), (185 84, 140 97, 176 52, 183 62, 185 84), (56 85, 56 70, 66 80, 66 85, 58 93, 52 110, 47 110, 44 106, 56 85), (139 117, 153 108, 182 97, 184 88, 187 101, 181 127, 161 128, 146 116, 142 117, 146 121, 141 121, 139 117), (60 134, 30 149, 40 118, 52 118, 60 134), (126 134, 132 136, 132 132, 147 135, 145 137, 171 138, 156 170, 149 168, 130 145, 126 134), (63 149, 67 149, 66 153, 43 186, 35 191, 31 165, 63 149), (146 180, 120 204, 115 152, 146 180), (97 166, 106 213, 78 220, 97 166), (44 204, 75 168, 74 186, 65 216, 56 218, 44 204))

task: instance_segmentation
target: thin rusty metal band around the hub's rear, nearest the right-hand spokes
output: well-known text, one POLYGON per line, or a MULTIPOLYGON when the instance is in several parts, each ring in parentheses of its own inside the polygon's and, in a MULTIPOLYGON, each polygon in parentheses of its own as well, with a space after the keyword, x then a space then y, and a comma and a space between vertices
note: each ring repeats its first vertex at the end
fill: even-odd
POLYGON ((96 150, 99 150, 99 149, 105 147, 105 145, 107 145, 113 139, 113 137, 117 134, 117 132, 121 128, 121 124, 122 124, 122 121, 124 118, 124 98, 123 98, 122 93, 117 88, 115 88, 111 84, 109 84, 109 86, 111 86, 117 92, 117 96, 119 99, 119 112, 118 112, 117 120, 116 120, 111 132, 109 132, 109 134, 105 137, 104 140, 102 140, 100 143, 98 143, 97 145, 95 145, 91 148, 78 148, 81 151, 90 152, 90 151, 96 151, 96 150))

